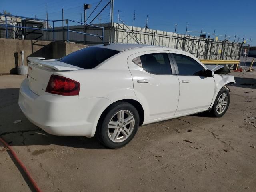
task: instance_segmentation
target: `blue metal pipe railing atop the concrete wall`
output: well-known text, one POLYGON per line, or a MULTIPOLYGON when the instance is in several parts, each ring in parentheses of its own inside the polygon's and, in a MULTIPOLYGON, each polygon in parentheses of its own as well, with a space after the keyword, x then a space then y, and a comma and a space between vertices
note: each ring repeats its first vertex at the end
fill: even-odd
POLYGON ((69 33, 70 32, 74 32, 74 33, 78 33, 78 34, 84 34, 84 35, 89 35, 89 36, 96 36, 98 38, 100 38, 102 40, 102 44, 104 43, 104 27, 100 27, 100 26, 95 26, 95 25, 91 25, 91 24, 86 24, 86 23, 82 23, 82 22, 78 22, 78 21, 74 21, 74 20, 69 20, 69 19, 63 19, 63 20, 46 20, 46 19, 39 19, 39 18, 31 18, 31 17, 24 17, 24 16, 16 16, 16 15, 6 15, 6 14, 1 14, 0 13, 0 16, 4 16, 5 17, 5 24, 0 24, 0 26, 4 26, 6 28, 6 38, 8 39, 8 27, 15 27, 15 28, 25 28, 25 29, 34 29, 34 30, 42 30, 42 31, 50 31, 50 32, 53 32, 53 41, 55 41, 55 32, 56 31, 67 31, 67 42, 70 41, 69 37, 69 33), (48 22, 52 22, 52 29, 48 29, 48 26, 47 28, 34 28, 34 27, 24 27, 24 26, 17 26, 17 25, 10 25, 8 24, 8 20, 7 18, 8 17, 12 17, 12 18, 25 18, 25 19, 30 19, 30 20, 41 20, 41 21, 46 21, 47 22, 47 25, 48 25, 48 22), (55 22, 66 22, 67 24, 67 29, 58 29, 58 30, 55 30, 54 28, 54 23, 55 22), (69 25, 69 22, 74 22, 74 23, 78 23, 78 24, 82 24, 82 25, 85 25, 85 26, 93 26, 95 28, 100 28, 102 29, 102 36, 99 36, 99 35, 95 35, 95 34, 89 34, 89 33, 85 33, 85 32, 78 32, 78 31, 74 31, 74 30, 70 30, 70 25, 69 25))

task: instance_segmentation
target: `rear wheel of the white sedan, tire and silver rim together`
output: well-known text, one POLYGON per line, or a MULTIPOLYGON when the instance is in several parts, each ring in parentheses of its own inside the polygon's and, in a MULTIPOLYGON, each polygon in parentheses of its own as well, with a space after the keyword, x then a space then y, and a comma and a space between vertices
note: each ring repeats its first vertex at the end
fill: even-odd
POLYGON ((98 139, 109 148, 120 148, 134 138, 139 126, 139 114, 127 102, 110 106, 98 123, 98 139))

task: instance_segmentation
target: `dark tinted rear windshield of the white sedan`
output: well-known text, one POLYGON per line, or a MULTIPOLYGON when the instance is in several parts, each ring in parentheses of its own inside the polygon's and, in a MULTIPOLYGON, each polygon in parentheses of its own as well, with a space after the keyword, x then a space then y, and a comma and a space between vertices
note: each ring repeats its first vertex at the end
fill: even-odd
POLYGON ((67 56, 64 56, 60 58, 59 61, 83 69, 92 69, 98 64, 118 53, 119 51, 112 49, 87 47, 75 51, 67 56))

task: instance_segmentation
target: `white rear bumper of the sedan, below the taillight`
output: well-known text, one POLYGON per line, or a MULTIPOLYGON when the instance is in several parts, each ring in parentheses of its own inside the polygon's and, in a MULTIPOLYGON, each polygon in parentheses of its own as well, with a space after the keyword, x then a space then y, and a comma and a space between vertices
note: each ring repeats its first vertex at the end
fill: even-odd
POLYGON ((20 86, 19 106, 24 115, 45 132, 62 136, 95 134, 100 114, 111 104, 106 98, 78 98, 45 93, 38 96, 25 79, 20 86))

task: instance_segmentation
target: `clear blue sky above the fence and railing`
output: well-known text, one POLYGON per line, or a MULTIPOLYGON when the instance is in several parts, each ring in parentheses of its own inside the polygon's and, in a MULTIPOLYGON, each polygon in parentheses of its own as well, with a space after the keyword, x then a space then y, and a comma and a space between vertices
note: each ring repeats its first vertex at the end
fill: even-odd
MULTIPOLYGON (((99 8, 107 1, 103 0, 99 8)), ((15 15, 45 18, 47 4, 49 19, 61 19, 64 8, 64 18, 80 21, 82 5, 92 5, 88 16, 97 2, 99 0, 0 0, 0 12, 7 10, 15 15)), ((215 29, 221 35, 227 32, 227 36, 236 34, 242 38, 245 35, 246 39, 252 36, 252 45, 256 45, 255 8, 256 0, 114 0, 114 21, 117 22, 117 12, 120 10, 120 18, 132 25, 135 9, 136 26, 145 26, 148 15, 148 26, 153 29, 174 32, 175 24, 178 24, 176 31, 184 34, 188 24, 190 31, 200 31, 202 27, 203 32, 213 33, 215 29)), ((109 21, 109 10, 107 7, 102 12, 101 22, 109 21)), ((95 22, 99 22, 99 18, 95 22)))

